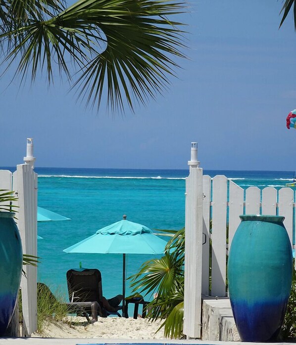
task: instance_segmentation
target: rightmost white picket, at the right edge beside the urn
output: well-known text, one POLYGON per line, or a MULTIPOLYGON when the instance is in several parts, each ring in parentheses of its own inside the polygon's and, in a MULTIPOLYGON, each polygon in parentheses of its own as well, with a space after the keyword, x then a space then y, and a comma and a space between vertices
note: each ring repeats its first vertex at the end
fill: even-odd
POLYGON ((281 188, 279 190, 279 216, 284 216, 284 225, 288 232, 291 246, 293 247, 293 202, 294 202, 294 191, 292 188, 281 188))

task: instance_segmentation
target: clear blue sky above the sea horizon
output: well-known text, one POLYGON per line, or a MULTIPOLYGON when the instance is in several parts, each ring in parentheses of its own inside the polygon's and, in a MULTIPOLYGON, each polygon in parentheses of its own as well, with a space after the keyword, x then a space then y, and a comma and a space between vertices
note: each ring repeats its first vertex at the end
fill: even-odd
POLYGON ((204 169, 296 170, 296 33, 282 1, 192 0, 178 79, 146 107, 99 114, 67 83, 0 83, 0 166, 21 164, 33 137, 37 167, 187 169, 198 142, 204 169))

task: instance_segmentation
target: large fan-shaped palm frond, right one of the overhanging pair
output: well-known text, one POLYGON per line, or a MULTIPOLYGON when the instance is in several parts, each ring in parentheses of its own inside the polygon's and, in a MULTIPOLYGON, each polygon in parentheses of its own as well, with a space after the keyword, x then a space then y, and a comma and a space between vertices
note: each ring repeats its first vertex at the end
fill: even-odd
MULTIPOLYGON (((89 1, 94 6, 97 1, 89 1)), ((182 4, 172 1, 101 0, 108 8, 97 15, 97 25, 106 37, 106 49, 82 71, 75 83, 78 98, 99 107, 107 84, 108 106, 124 109, 124 99, 145 104, 169 86, 177 64, 170 56, 184 57, 180 23, 166 17, 181 11, 182 4)), ((93 8, 93 7, 92 7, 93 8)))

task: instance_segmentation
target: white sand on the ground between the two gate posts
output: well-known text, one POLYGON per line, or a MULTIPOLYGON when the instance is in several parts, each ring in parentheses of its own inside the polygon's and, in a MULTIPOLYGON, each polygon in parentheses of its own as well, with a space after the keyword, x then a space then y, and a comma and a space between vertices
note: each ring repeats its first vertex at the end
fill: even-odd
POLYGON ((163 328, 158 331, 161 320, 124 317, 99 318, 98 322, 87 324, 82 317, 71 317, 67 323, 47 323, 42 335, 32 337, 47 338, 103 338, 103 339, 164 339, 163 328))

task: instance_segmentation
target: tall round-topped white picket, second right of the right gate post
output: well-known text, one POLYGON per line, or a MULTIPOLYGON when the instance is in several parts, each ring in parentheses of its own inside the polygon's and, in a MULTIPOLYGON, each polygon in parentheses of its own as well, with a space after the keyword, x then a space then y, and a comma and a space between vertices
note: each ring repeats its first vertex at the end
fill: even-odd
POLYGON ((226 295, 227 177, 217 175, 212 186, 212 296, 226 295))

